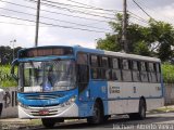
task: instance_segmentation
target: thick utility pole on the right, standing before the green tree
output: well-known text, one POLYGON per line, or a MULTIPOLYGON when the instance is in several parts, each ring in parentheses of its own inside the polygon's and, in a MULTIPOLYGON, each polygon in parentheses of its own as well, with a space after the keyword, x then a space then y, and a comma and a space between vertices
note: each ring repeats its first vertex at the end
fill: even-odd
POLYGON ((128 44, 126 39, 127 28, 127 0, 123 0, 123 25, 122 25, 122 43, 125 52, 128 52, 128 44))

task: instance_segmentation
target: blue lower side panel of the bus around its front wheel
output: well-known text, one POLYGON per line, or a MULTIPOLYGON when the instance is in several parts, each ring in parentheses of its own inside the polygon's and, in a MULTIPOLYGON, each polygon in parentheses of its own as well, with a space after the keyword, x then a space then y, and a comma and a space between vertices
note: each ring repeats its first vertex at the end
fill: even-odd
POLYGON ((108 115, 108 89, 107 81, 91 80, 88 88, 79 93, 78 109, 80 117, 92 116, 94 104, 97 99, 103 103, 104 115, 108 115))

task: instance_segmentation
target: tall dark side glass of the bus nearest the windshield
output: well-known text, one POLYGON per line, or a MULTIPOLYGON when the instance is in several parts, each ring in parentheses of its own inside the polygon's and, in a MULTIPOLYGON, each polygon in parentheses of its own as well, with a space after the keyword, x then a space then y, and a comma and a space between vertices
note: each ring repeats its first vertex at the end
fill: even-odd
POLYGON ((85 53, 77 55, 77 82, 79 93, 87 88, 89 82, 88 55, 85 53))

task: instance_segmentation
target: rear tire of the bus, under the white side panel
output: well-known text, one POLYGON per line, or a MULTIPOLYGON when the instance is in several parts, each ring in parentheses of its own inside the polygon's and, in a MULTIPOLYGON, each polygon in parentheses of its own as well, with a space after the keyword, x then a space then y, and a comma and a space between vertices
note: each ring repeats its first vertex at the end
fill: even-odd
POLYGON ((145 119, 146 118, 146 102, 145 100, 139 101, 139 108, 138 113, 128 114, 130 119, 145 119))

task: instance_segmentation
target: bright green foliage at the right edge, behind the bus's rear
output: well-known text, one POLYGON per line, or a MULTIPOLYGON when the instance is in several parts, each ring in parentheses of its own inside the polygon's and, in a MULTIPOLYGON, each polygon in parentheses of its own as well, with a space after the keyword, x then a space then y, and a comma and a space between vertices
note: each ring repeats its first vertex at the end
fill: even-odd
POLYGON ((162 75, 164 82, 173 83, 174 82, 174 65, 170 63, 164 63, 162 65, 162 75))

